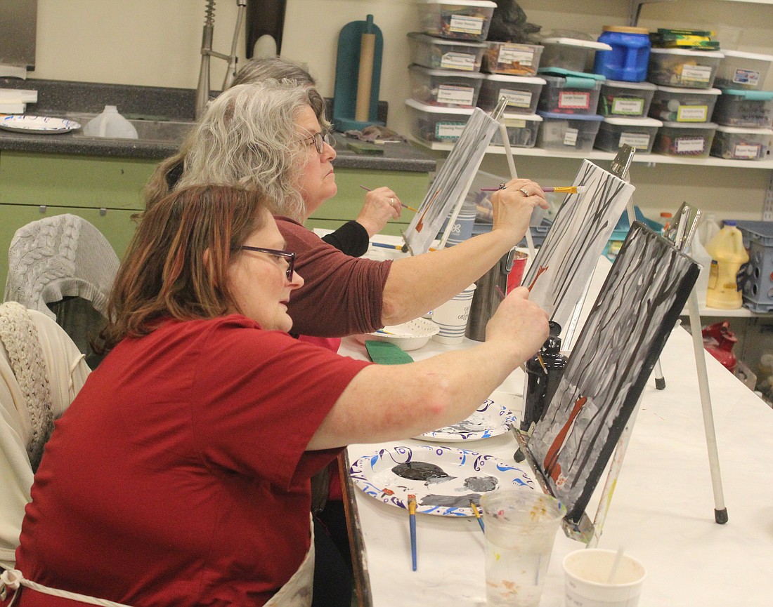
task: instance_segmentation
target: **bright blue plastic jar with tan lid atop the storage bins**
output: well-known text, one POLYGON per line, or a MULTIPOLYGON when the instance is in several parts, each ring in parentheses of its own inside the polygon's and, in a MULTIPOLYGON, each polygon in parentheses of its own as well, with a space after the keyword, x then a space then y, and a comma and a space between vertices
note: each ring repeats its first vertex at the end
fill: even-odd
POLYGON ((604 25, 598 41, 606 42, 612 49, 596 51, 594 73, 625 82, 642 82, 646 79, 650 49, 647 29, 604 25))

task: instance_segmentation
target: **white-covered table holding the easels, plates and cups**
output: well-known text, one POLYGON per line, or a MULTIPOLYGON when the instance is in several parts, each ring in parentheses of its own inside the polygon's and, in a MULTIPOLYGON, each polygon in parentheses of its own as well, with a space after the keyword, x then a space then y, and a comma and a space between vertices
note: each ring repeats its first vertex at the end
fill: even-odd
MULTIPOLYGON (((465 340, 461 347, 472 344, 465 340)), ((418 360, 446 348, 431 341, 411 354, 418 360)), ((340 353, 366 358, 350 337, 340 353)), ((652 378, 647 383, 598 547, 623 546, 645 565, 640 607, 773 605, 773 411, 707 356, 729 516, 727 524, 716 524, 690 334, 677 327, 660 360, 666 389, 656 390, 652 378)), ((523 373, 516 370, 497 398, 511 399, 519 411, 522 390, 523 373)), ((381 446, 388 445, 349 446, 349 460, 381 446)), ((512 461, 516 442, 506 434, 465 447, 512 461)), ((587 510, 591 519, 603 478, 587 510)), ((418 514, 414 572, 406 512, 356 489, 354 499, 373 607, 485 604, 484 536, 474 519, 418 514)), ((583 545, 557 537, 542 607, 564 604, 561 559, 583 545)))

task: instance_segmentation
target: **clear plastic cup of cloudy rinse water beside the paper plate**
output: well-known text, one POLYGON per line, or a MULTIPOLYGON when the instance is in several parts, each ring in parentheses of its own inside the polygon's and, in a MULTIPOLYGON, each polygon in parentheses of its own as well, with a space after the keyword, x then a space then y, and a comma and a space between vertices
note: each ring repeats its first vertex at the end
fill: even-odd
POLYGON ((481 496, 489 607, 537 607, 564 504, 528 487, 481 496))

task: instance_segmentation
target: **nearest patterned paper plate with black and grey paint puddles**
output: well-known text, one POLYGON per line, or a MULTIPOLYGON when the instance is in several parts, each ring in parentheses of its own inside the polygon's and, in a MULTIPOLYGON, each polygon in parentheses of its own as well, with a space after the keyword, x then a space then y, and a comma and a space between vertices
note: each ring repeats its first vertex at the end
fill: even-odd
POLYGON ((414 493, 417 512, 472 517, 470 500, 497 487, 534 489, 528 473, 494 456, 447 446, 393 446, 360 457, 349 469, 356 487, 376 500, 407 508, 414 493))

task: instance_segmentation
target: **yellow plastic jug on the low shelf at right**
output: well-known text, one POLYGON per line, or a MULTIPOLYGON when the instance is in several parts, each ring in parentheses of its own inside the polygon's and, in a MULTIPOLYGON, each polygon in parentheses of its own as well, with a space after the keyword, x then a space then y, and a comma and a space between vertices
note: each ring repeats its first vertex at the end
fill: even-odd
POLYGON ((711 256, 706 305, 721 310, 741 307, 744 297, 739 280, 743 276, 741 268, 749 261, 749 254, 736 222, 726 220, 722 229, 706 245, 706 251, 711 256))

